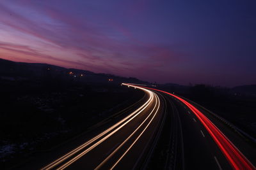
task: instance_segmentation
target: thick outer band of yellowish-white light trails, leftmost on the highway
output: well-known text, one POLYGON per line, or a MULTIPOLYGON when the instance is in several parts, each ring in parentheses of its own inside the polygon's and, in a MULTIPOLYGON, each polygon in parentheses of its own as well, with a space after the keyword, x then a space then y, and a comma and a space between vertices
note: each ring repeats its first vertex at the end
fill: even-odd
POLYGON ((79 155, 77 155, 76 157, 74 157, 73 159, 69 160, 68 162, 66 162, 65 164, 63 164, 63 166, 59 167, 58 169, 64 169, 65 167, 70 166, 70 164, 74 163, 77 159, 83 157, 83 155, 85 155, 86 153, 90 152, 90 150, 92 150, 93 148, 95 148, 96 146, 100 145, 100 143, 102 143, 103 141, 105 141, 106 139, 108 139, 110 136, 112 136, 113 134, 115 134, 115 132, 117 132, 118 130, 120 130, 122 127, 124 127, 124 125, 128 124, 133 118, 137 117, 138 115, 140 115, 140 113, 145 110, 150 103, 152 103, 152 101, 154 100, 154 93, 151 92, 150 90, 147 89, 143 89, 141 87, 138 87, 138 89, 141 89, 143 91, 145 91, 147 94, 149 94, 149 99, 146 103, 144 103, 140 108, 138 108, 136 111, 132 112, 130 115, 128 115, 127 117, 125 117, 124 119, 120 120, 120 122, 116 123, 115 125, 109 127, 109 129, 107 129, 106 131, 100 133, 99 135, 95 136, 94 138, 90 139, 89 141, 87 141, 86 143, 84 143, 83 145, 77 147, 76 149, 72 150, 71 152, 68 152, 66 155, 63 155, 63 157, 61 157, 60 159, 55 160, 54 162, 52 162, 51 164, 43 167, 42 169, 47 170, 47 169, 52 169, 53 167, 56 167, 58 165, 60 165, 63 161, 69 159, 70 157, 72 157, 73 155, 75 155, 78 152, 81 152, 84 148, 86 148, 87 146, 91 145, 93 142, 97 141, 97 139, 100 139, 101 137, 103 137, 104 135, 108 134, 108 132, 110 132, 107 136, 105 136, 104 138, 100 139, 99 141, 97 141, 96 143, 94 143, 92 146, 90 146, 89 148, 87 148, 85 151, 83 151, 82 153, 80 153, 79 155), (119 126, 120 125, 120 126, 119 126), (118 127, 119 126, 119 127, 118 127), (115 129, 116 128, 116 129, 115 129), (115 130, 113 130, 115 129, 115 130), (113 131, 112 131, 113 130, 113 131), (111 132, 112 131, 112 132, 111 132))

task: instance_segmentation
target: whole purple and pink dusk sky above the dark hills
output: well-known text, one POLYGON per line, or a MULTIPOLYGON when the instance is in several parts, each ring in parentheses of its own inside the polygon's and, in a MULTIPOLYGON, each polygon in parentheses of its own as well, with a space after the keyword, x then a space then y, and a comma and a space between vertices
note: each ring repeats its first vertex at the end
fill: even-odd
POLYGON ((256 83, 256 1, 0 2, 0 58, 233 87, 256 83))

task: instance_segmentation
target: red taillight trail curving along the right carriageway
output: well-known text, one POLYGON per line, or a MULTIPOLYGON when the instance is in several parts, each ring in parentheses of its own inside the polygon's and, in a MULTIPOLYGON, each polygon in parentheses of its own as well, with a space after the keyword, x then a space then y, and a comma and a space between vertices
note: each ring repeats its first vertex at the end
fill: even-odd
POLYGON ((188 106, 188 108, 196 115, 198 120, 200 120, 200 122, 204 125, 205 129, 207 129, 212 139, 218 145, 221 152, 223 153, 223 155, 225 155, 228 162, 234 169, 256 169, 250 162, 250 160, 246 159, 243 153, 241 153, 239 149, 236 148, 236 146, 220 131, 220 129, 218 129, 218 127, 216 127, 216 125, 214 125, 211 122, 211 120, 205 117, 205 115, 199 110, 197 110, 192 104, 188 103, 179 96, 175 96, 174 94, 164 92, 163 90, 152 89, 150 87, 143 88, 163 92, 165 94, 168 94, 179 99, 180 101, 182 101, 182 103, 186 104, 186 106, 188 106))

